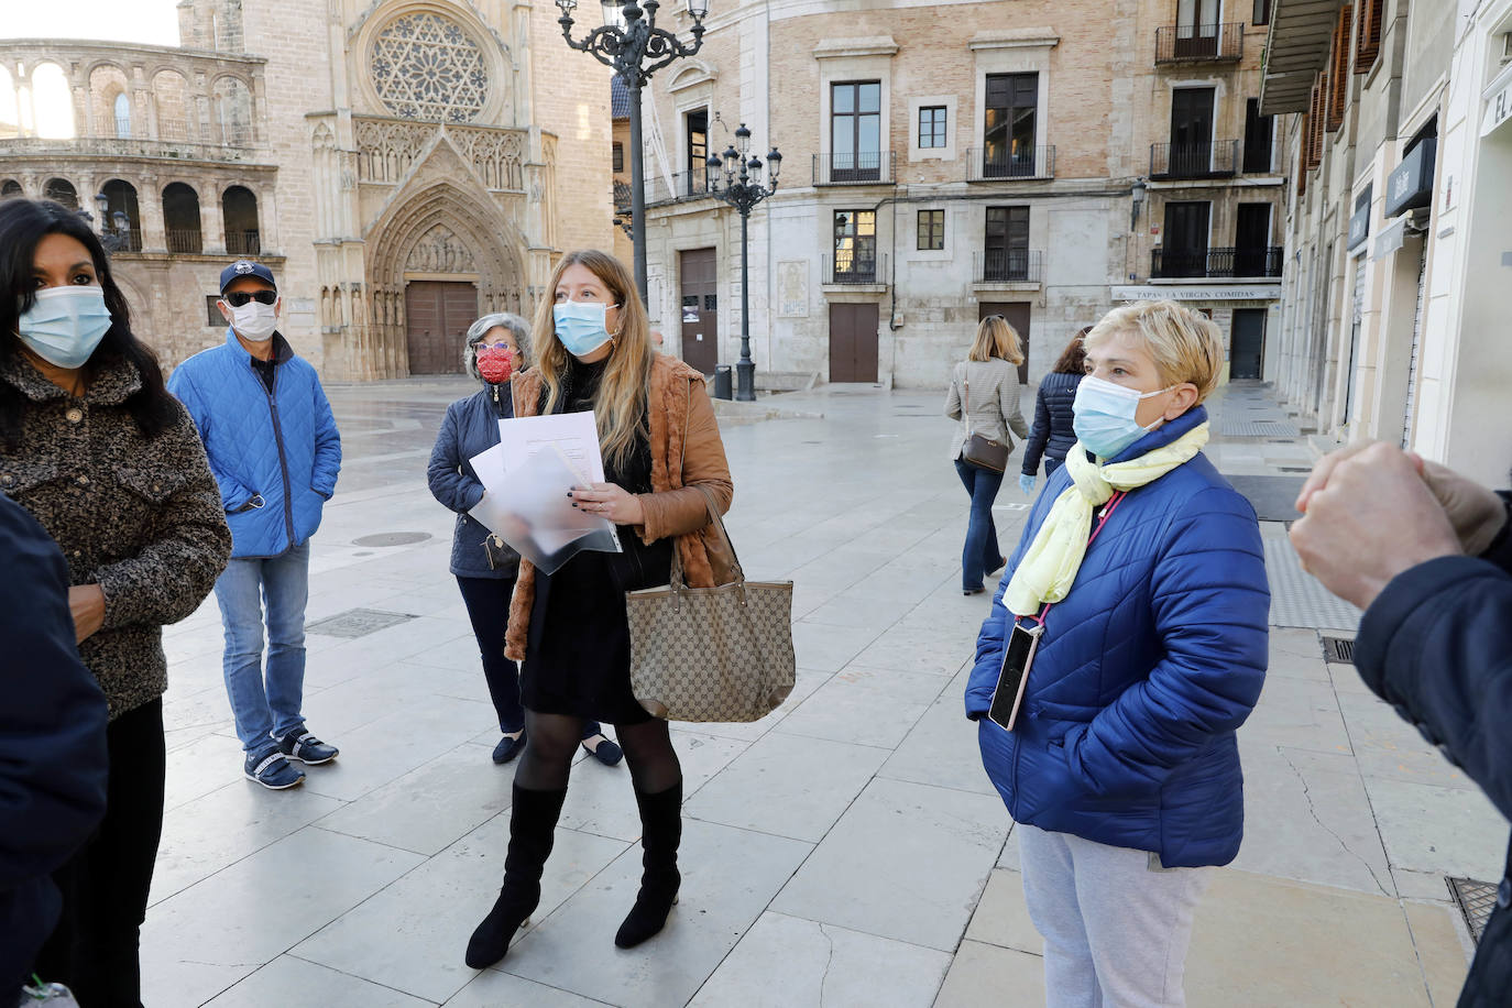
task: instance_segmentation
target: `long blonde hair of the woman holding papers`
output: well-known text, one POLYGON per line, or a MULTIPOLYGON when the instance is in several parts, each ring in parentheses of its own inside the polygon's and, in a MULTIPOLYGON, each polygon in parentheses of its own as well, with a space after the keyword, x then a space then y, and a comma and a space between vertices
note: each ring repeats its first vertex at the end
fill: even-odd
POLYGON ((552 271, 546 284, 546 296, 535 310, 535 367, 546 382, 546 413, 552 413, 562 397, 562 375, 567 373, 567 348, 556 339, 556 317, 552 308, 556 301, 556 284, 570 266, 584 266, 597 277, 620 308, 620 326, 611 332, 611 346, 594 414, 599 423, 599 446, 605 461, 623 467, 635 447, 635 437, 644 429, 646 396, 652 378, 655 352, 650 343, 650 325, 646 305, 635 290, 635 280, 624 264, 599 249, 585 248, 567 252, 552 271))

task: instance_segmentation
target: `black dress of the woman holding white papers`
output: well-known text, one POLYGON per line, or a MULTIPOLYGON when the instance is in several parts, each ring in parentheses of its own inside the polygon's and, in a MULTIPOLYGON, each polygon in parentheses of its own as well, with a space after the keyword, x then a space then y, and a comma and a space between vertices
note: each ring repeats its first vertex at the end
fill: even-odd
MULTIPOLYGON (((593 408, 602 367, 569 366, 565 413, 593 408), (576 388, 572 388, 576 385, 576 388)), ((605 459, 605 479, 632 494, 650 493, 650 441, 641 435, 620 467, 605 459)), ((559 713, 608 724, 640 724, 650 715, 631 692, 631 627, 624 592, 665 585, 673 540, 641 543, 620 526, 623 553, 584 550, 555 574, 535 571, 535 604, 520 666, 520 701, 537 713, 559 713)))

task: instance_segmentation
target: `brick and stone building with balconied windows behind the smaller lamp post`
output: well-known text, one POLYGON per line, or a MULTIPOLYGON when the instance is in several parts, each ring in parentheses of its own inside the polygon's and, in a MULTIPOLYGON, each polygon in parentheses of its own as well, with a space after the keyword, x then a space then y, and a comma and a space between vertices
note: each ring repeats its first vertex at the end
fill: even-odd
POLYGON ((702 159, 745 122, 753 154, 783 154, 750 221, 759 381, 940 387, 992 313, 1037 376, 1113 304, 1152 296, 1238 331, 1235 373, 1259 376, 1285 162, 1253 101, 1267 5, 1238 6, 715 6, 702 51, 646 92, 668 351, 738 358, 739 218, 706 195, 702 159))

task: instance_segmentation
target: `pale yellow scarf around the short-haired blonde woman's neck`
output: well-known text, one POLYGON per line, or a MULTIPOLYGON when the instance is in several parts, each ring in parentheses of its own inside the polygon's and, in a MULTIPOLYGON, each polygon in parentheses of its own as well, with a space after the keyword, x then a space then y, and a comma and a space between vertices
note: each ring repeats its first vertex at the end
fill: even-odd
POLYGON ((1046 601, 1064 598, 1087 555, 1093 508, 1105 503, 1114 490, 1134 490, 1155 482, 1190 461, 1207 443, 1208 425, 1204 420, 1170 444, 1126 462, 1099 465, 1087 461, 1081 441, 1072 444, 1066 452, 1066 470, 1072 484, 1051 505, 1039 533, 1013 570, 1013 579, 1002 594, 1002 604, 1009 612, 1031 617, 1046 601))

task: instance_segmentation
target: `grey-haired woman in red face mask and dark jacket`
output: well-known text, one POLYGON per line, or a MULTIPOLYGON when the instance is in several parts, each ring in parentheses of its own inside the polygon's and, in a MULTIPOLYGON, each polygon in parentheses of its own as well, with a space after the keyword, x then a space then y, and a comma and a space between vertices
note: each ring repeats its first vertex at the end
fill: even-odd
MULTIPOLYGON (((510 375, 529 367, 529 352, 531 326, 517 314, 485 314, 467 328, 463 364, 482 382, 482 388, 446 408, 426 470, 431 496, 457 512, 452 574, 463 592, 482 656, 488 697, 499 715, 503 737, 493 747, 494 763, 508 763, 525 751, 520 669, 503 656, 503 632, 510 623, 510 597, 520 555, 467 514, 485 493, 469 459, 499 443, 499 420, 514 419, 510 375)), ((582 748, 605 766, 614 766, 624 756, 597 721, 584 724, 582 748)))

